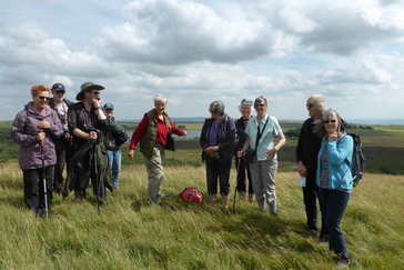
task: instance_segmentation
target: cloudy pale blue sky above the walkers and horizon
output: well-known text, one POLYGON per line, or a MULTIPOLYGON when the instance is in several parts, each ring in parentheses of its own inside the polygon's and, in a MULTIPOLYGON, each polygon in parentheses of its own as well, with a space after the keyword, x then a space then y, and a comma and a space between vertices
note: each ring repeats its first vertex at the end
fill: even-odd
POLYGON ((1 0, 0 120, 32 84, 103 84, 120 119, 139 119, 153 96, 172 117, 208 117, 244 98, 304 119, 325 96, 346 119, 404 119, 401 0, 1 0))

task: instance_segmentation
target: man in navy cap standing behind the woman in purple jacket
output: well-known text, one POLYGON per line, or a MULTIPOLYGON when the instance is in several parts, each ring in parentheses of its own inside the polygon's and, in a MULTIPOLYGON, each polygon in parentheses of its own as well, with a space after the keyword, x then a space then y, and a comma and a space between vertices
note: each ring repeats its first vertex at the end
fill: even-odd
POLYGON ((53 98, 49 100, 49 106, 58 113, 64 131, 62 137, 53 139, 57 152, 57 164, 54 166, 54 191, 65 197, 68 196, 68 190, 63 179, 63 170, 69 156, 68 150, 71 142, 71 136, 68 128, 68 111, 72 102, 65 99, 65 88, 62 83, 54 83, 51 90, 53 98))

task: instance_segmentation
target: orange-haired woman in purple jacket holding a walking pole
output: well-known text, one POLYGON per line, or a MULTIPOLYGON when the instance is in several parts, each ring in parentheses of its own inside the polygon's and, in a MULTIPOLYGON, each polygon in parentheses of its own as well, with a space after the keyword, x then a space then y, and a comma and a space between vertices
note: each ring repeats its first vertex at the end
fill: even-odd
POLYGON ((48 207, 52 202, 53 169, 57 161, 52 138, 62 136, 63 127, 57 112, 48 106, 48 87, 33 86, 31 96, 32 101, 12 122, 11 138, 20 144, 19 162, 23 173, 26 204, 41 218, 46 214, 43 177, 47 182, 48 207))

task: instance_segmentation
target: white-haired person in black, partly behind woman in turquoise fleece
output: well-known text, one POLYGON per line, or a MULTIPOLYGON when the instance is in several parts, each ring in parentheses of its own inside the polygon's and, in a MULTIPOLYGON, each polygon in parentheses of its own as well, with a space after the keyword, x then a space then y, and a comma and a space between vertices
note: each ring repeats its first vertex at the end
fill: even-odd
MULTIPOLYGON (((317 231, 317 187, 315 183, 315 173, 322 140, 314 127, 321 122, 324 107, 325 98, 322 94, 313 94, 307 99, 306 108, 310 118, 302 126, 296 148, 297 172, 300 177, 305 178, 305 187, 302 190, 307 218, 306 226, 307 230, 313 232, 317 231)), ((322 222, 320 240, 326 241, 326 238, 324 222, 322 222)))

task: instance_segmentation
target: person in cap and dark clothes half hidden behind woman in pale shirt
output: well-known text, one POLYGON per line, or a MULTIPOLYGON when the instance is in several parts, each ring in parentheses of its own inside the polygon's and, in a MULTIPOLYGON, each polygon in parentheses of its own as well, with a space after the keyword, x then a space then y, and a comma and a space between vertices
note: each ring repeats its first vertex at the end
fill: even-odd
MULTIPOLYGON (((251 119, 252 101, 243 99, 239 106, 239 109, 242 117, 235 121, 235 129, 238 134, 236 151, 240 151, 243 148, 244 142, 248 138, 248 134, 245 133, 245 127, 251 119)), ((254 191, 252 188, 250 166, 249 162, 245 160, 245 157, 242 157, 240 159, 235 158, 235 168, 238 168, 238 192, 240 197, 244 199, 246 192, 246 179, 249 179, 249 201, 252 202, 254 198, 254 191)))

